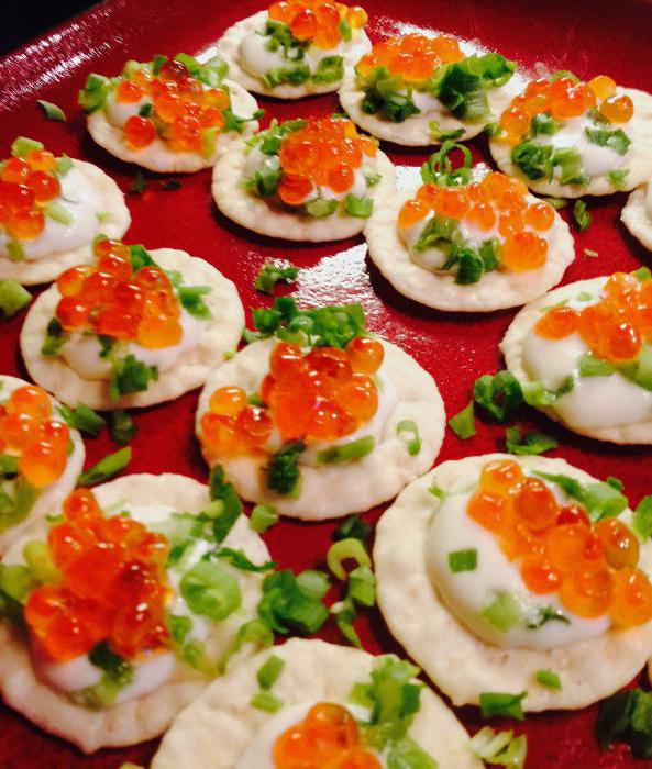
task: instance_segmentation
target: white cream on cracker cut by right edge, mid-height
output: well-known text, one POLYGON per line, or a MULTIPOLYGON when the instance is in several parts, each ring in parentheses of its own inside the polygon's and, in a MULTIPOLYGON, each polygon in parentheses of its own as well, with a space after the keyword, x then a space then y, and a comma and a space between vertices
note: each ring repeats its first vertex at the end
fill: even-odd
MULTIPOLYGON (((571 300, 568 307, 582 309, 596 304, 596 293, 588 301, 571 300)), ((555 401, 555 412, 572 427, 593 430, 617 427, 652 419, 652 392, 615 371, 604 377, 581 377, 579 361, 589 348, 578 333, 562 339, 546 339, 530 328, 523 343, 522 364, 528 377, 557 390, 570 377, 575 387, 555 401)))

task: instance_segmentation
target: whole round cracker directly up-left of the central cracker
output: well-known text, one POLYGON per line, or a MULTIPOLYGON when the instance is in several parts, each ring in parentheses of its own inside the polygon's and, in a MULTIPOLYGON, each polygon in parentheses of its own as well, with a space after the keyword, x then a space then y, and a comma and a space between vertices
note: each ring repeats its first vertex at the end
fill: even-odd
POLYGON ((224 353, 234 349, 244 327, 244 309, 237 289, 208 261, 176 248, 156 248, 152 258, 167 270, 178 270, 189 286, 210 286, 205 297, 213 319, 205 323, 197 346, 179 357, 144 392, 122 395, 117 401, 109 394, 109 380, 89 380, 80 377, 64 358, 41 355, 45 328, 54 316, 59 293, 56 286, 42 293, 32 304, 21 331, 21 352, 25 366, 35 382, 53 392, 69 405, 81 402, 91 409, 133 409, 170 401, 188 390, 200 387, 224 353))

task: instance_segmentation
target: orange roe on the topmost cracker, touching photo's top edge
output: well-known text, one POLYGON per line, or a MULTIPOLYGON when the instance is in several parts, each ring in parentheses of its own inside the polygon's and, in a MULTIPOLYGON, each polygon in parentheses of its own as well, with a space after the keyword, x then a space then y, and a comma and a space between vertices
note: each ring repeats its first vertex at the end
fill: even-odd
POLYGON ((273 21, 287 24, 297 40, 314 43, 323 51, 335 48, 342 42, 342 22, 356 31, 368 21, 360 5, 349 8, 341 2, 323 0, 280 0, 269 5, 267 13, 273 21))

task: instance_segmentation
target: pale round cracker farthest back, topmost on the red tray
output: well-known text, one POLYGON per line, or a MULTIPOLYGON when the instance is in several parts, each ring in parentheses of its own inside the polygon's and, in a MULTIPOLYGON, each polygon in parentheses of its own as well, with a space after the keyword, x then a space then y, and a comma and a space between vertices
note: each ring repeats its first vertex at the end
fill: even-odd
MULTIPOLYGON (((240 66, 240 44, 250 34, 258 29, 267 19, 267 11, 258 11, 252 16, 247 16, 242 21, 230 26, 226 32, 216 43, 219 55, 229 65, 229 77, 235 82, 239 82, 247 91, 262 93, 263 96, 275 97, 276 99, 302 99, 307 96, 317 93, 332 93, 340 87, 340 82, 319 83, 311 80, 302 82, 300 86, 292 86, 289 82, 284 82, 280 86, 269 88, 263 80, 254 77, 240 66)), ((363 54, 372 49, 372 43, 364 30, 361 32, 361 37, 356 41, 356 45, 351 51, 343 54, 344 71, 358 60, 363 54)))

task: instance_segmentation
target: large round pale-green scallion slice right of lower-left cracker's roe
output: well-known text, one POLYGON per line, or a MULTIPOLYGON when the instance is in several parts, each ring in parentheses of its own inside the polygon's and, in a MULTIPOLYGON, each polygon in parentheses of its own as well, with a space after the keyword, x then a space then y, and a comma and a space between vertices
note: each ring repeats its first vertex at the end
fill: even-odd
POLYGON ((181 595, 194 614, 221 622, 242 605, 237 579, 218 564, 200 560, 186 571, 179 584, 181 595))

